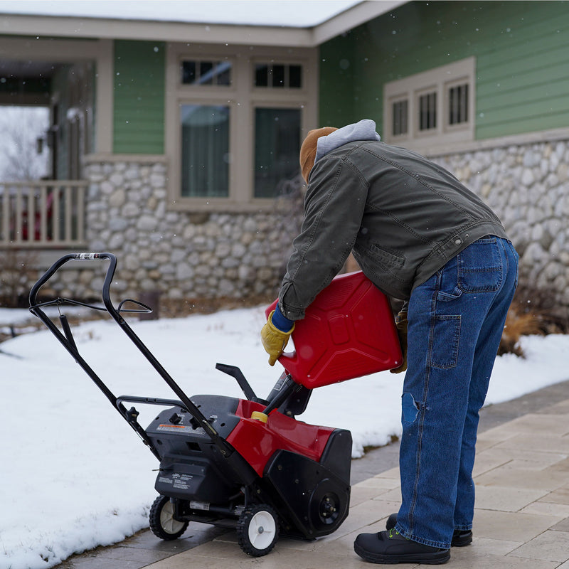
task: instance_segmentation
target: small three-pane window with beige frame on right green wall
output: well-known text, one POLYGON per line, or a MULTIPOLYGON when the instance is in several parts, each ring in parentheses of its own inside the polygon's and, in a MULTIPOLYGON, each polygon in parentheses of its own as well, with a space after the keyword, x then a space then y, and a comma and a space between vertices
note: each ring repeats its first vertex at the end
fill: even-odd
POLYGON ((474 58, 386 83, 385 142, 429 151, 474 139, 474 58))

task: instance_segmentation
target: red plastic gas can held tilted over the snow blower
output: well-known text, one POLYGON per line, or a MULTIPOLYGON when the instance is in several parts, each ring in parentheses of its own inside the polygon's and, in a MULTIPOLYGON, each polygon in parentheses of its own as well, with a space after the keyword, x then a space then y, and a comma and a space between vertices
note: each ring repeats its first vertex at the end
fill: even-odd
MULTIPOLYGON (((275 309, 277 301, 265 311, 275 309)), ((292 333, 279 361, 312 389, 400 366, 401 347, 388 298, 363 272, 335 277, 292 333)))

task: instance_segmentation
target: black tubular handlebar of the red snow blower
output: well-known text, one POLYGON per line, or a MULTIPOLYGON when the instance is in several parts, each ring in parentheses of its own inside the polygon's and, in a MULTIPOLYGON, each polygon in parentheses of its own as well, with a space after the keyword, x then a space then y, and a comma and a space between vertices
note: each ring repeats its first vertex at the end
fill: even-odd
MULTIPOLYGON (((203 430, 206 432, 208 437, 210 437, 213 444, 215 444, 219 448, 221 454, 226 458, 229 457, 230 454, 233 453, 233 447, 231 447, 231 445, 228 445, 228 443, 225 442, 225 440, 222 437, 220 437, 218 432, 212 427, 211 423, 207 420, 205 415, 203 415, 203 413, 201 413, 201 411, 196 407, 196 405, 192 403, 191 399, 188 398, 186 393, 184 393, 184 391, 180 388, 180 386, 176 383, 176 381, 174 381, 174 378, 171 378, 169 373, 164 369, 164 367, 162 367, 161 363, 149 351, 147 346, 144 345, 142 340, 139 339, 139 337, 136 334, 134 334, 132 328, 129 326, 129 324, 127 324, 127 322, 121 316, 119 309, 116 309, 113 306, 110 297, 110 286, 112 283, 112 278, 115 276, 115 270, 117 268, 117 257, 115 257, 115 255, 108 252, 70 253, 69 255, 64 255, 59 260, 55 261, 53 265, 51 265, 51 267, 46 271, 46 273, 43 276, 41 276, 38 282, 36 282, 36 284, 33 285, 33 287, 31 288, 29 296, 30 312, 32 312, 32 314, 35 314, 39 319, 41 319, 41 321, 43 321, 43 324, 46 324, 46 326, 52 332, 52 334, 60 341, 61 344, 63 344, 63 347, 65 347, 65 349, 71 354, 71 356, 75 358, 75 361, 79 363, 79 365, 83 368, 85 373, 87 373, 87 375, 92 379, 95 385, 97 385, 97 387, 100 388, 102 393, 105 394, 107 399, 110 400, 112 405, 119 411, 122 417, 125 420, 127 420, 129 425, 131 425, 131 427, 138 433, 138 435, 142 438, 144 443, 151 448, 154 454, 156 454, 156 450, 153 448, 152 443, 150 442, 150 440, 146 435, 146 432, 137 422, 138 414, 132 413, 132 410, 129 411, 124 407, 124 405, 122 405, 122 400, 127 400, 127 398, 124 396, 122 398, 117 398, 111 392, 111 390, 107 388, 107 385, 105 385, 105 383, 102 382, 102 380, 99 378, 99 376, 97 376, 95 371, 92 370, 89 364, 80 355, 78 348, 75 345, 75 341, 73 340, 73 335, 71 334, 70 327, 67 322, 67 319, 65 318, 65 315, 62 315, 60 317, 63 329, 62 333, 60 329, 57 326, 55 326, 53 321, 51 321, 51 319, 47 316, 47 314, 43 312, 42 309, 43 306, 48 306, 53 304, 64 304, 65 299, 56 299, 51 302, 38 303, 38 292, 41 289, 41 287, 43 287, 43 285, 46 285, 46 282, 48 282, 48 280, 50 280, 50 278, 53 277, 55 272, 57 272, 58 269, 60 269, 60 267, 65 265, 66 262, 72 260, 75 261, 108 260, 109 261, 109 266, 107 267, 107 274, 105 275, 105 281, 103 282, 102 286, 102 301, 103 304, 105 304, 105 309, 107 309, 107 312, 111 315, 113 319, 115 319, 117 324, 121 327, 122 331, 124 331, 124 334, 127 334, 127 336, 133 342, 133 344, 137 346, 139 351, 141 351, 144 357, 147 358, 147 360, 151 363, 151 366, 153 366, 154 369, 159 373, 159 375, 164 379, 164 381, 166 381, 171 390, 173 390, 174 393, 178 395, 181 403, 183 403, 184 405, 184 408, 186 408, 188 412, 191 413, 191 415, 193 415, 193 418, 195 418, 196 421, 198 421, 200 426, 203 427, 203 430)), ((71 304, 82 304, 82 303, 71 302, 71 304)), ((122 306, 122 303, 119 305, 119 307, 120 306, 122 306)))

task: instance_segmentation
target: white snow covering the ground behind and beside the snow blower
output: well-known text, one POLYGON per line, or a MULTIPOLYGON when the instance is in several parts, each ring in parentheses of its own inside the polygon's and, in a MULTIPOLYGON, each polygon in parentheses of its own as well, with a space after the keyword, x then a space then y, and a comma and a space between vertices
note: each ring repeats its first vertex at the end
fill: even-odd
MULTIPOLYGON (((0 311, 5 323, 26 317, 0 311)), ((216 371, 220 361, 239 366, 265 397, 282 368, 268 365, 260 345, 264 321, 257 307, 132 327, 189 395, 243 397, 233 378, 216 371)), ((80 352, 116 395, 175 398, 114 322, 75 330, 80 352)), ((569 336, 527 336, 522 346, 526 359, 497 358, 487 403, 568 379, 569 336)), ((158 463, 58 341, 46 330, 10 339, 0 365, 0 568, 49 568, 147 527, 158 463)), ((359 457, 364 445, 400 435, 402 381, 383 372, 319 388, 300 418, 351 430, 359 457)), ((137 408, 147 425, 156 408, 137 408)))

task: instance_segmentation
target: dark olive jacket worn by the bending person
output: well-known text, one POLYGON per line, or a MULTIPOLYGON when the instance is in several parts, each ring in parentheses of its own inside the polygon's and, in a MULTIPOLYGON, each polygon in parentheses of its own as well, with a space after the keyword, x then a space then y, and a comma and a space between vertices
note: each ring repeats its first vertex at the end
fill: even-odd
POLYGON ((374 285, 409 299, 414 287, 484 235, 506 238, 499 218, 450 172, 384 142, 347 142, 310 172, 281 312, 303 318, 351 250, 374 285))

